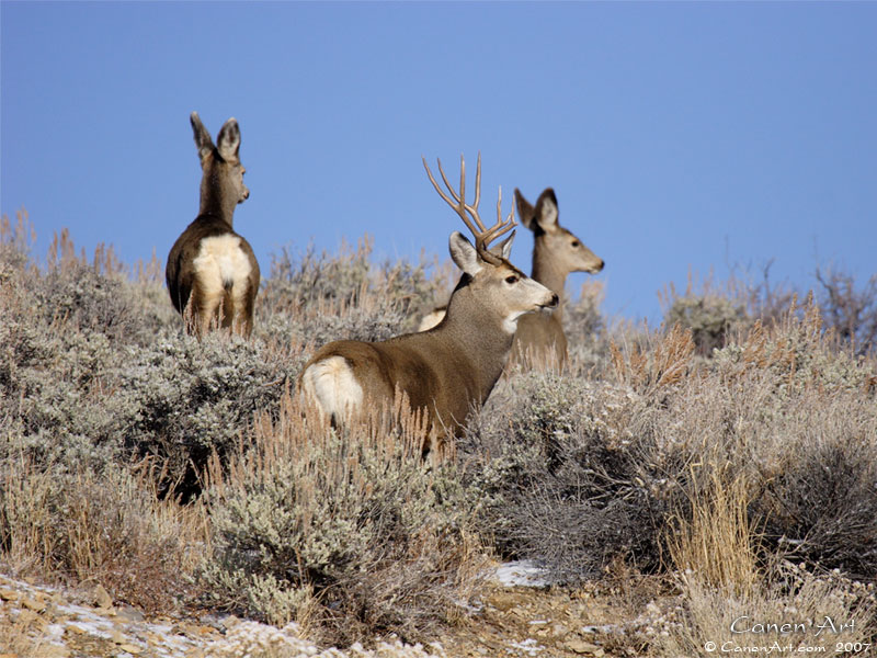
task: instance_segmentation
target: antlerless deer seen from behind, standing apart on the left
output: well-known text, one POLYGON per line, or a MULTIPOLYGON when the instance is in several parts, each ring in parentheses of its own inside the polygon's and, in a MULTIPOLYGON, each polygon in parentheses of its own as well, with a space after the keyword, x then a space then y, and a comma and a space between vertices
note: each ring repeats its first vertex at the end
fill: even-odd
POLYGON ((252 247, 232 228, 235 207, 250 196, 239 157, 240 128, 229 118, 214 146, 197 112, 190 121, 204 172, 201 209, 168 254, 168 291, 186 331, 201 338, 217 322, 249 337, 260 274, 252 247))

